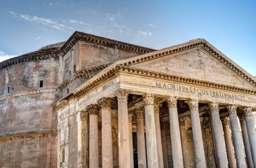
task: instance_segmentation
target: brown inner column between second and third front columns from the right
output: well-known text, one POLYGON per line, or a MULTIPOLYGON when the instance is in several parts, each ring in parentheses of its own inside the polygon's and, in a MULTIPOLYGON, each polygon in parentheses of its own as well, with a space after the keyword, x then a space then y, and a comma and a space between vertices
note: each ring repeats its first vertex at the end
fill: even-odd
POLYGON ((234 159, 234 148, 232 145, 232 139, 229 128, 229 119, 222 120, 222 126, 224 131, 224 139, 226 144, 226 153, 228 155, 228 167, 236 167, 236 159, 234 159))

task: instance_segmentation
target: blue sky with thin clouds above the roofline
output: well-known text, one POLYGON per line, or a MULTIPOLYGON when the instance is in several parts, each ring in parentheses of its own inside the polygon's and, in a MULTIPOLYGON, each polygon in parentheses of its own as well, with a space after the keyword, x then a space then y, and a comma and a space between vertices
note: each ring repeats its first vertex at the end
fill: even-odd
POLYGON ((256 1, 0 0, 0 61, 80 31, 149 48, 205 38, 256 76, 256 1))

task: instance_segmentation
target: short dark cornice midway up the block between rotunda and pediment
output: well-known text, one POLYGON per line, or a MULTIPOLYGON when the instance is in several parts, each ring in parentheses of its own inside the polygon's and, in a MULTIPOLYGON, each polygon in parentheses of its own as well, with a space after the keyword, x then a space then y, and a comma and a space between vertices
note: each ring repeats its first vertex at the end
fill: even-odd
POLYGON ((61 85, 59 85, 58 91, 63 90, 65 87, 67 87, 67 85, 73 83, 75 81, 75 79, 79 79, 79 78, 80 79, 90 79, 91 77, 93 77, 93 75, 90 75, 90 73, 96 73, 98 71, 101 71, 102 69, 105 69, 109 65, 110 64, 100 65, 98 67, 92 67, 90 69, 84 69, 84 70, 75 72, 75 75, 73 75, 73 77, 71 79, 68 79, 68 80, 64 81, 63 83, 61 83, 61 85))

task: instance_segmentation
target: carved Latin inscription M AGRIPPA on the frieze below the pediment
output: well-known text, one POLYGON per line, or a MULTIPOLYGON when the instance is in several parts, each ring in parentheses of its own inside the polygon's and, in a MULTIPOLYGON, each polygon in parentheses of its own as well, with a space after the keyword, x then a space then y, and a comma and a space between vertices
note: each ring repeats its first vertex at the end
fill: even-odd
POLYGON ((168 90, 172 90, 172 91, 182 91, 185 93, 193 93, 193 94, 199 94, 199 95, 211 95, 212 97, 222 97, 222 98, 227 98, 227 99, 237 99, 240 101, 245 101, 245 96, 243 96, 243 95, 224 93, 222 91, 212 91, 210 89, 187 87, 187 86, 173 84, 173 83, 156 82, 156 87, 162 88, 162 89, 168 89, 168 90))

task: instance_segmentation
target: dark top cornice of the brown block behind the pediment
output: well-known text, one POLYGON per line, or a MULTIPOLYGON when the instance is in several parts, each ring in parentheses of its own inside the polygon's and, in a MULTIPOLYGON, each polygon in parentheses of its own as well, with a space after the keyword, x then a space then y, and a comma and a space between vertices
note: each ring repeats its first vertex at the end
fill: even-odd
POLYGON ((92 43, 92 44, 99 44, 99 45, 102 45, 102 46, 106 46, 108 48, 118 48, 120 50, 127 50, 127 51, 131 51, 131 52, 137 52, 139 54, 145 54, 145 53, 154 51, 151 48, 136 46, 136 45, 128 44, 128 43, 125 43, 125 42, 119 42, 117 40, 111 40, 111 39, 103 38, 103 37, 100 37, 100 36, 94 36, 92 34, 86 34, 86 33, 82 33, 82 32, 75 32, 69 38, 69 40, 67 40, 67 42, 63 45, 63 47, 59 50, 58 55, 59 56, 65 55, 73 47, 73 45, 79 40, 83 40, 85 42, 89 42, 89 43, 92 43))

